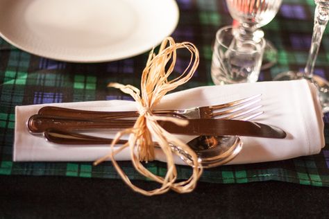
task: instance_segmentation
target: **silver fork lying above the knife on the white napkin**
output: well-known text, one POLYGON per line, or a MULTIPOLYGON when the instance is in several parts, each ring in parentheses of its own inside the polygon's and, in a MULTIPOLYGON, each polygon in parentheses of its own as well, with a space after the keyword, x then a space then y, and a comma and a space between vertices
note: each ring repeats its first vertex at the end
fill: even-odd
MULTIPOLYGON (((257 94, 248 98, 234 100, 229 103, 219 105, 192 107, 189 109, 171 109, 171 110, 154 110, 153 113, 157 115, 175 116, 180 119, 237 119, 244 116, 244 120, 249 120, 262 114, 263 112, 255 112, 260 109, 262 105, 255 105, 260 102, 260 96, 257 94), (247 116, 250 114, 250 116, 247 116)), ((87 111, 81 109, 69 109, 62 107, 47 106, 42 107, 37 114, 47 116, 65 116, 71 118, 88 118, 88 119, 119 119, 128 117, 137 117, 139 114, 135 111, 127 112, 100 112, 87 111)))

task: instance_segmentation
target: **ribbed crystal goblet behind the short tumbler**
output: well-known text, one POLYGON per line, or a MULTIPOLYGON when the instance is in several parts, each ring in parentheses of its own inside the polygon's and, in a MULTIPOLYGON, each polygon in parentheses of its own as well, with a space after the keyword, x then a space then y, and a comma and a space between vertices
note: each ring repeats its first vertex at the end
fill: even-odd
MULTIPOLYGON (((259 42, 264 37, 260 27, 269 24, 276 16, 282 0, 226 0, 230 15, 239 23, 237 40, 259 42)), ((277 50, 267 41, 262 68, 277 62, 277 50)))

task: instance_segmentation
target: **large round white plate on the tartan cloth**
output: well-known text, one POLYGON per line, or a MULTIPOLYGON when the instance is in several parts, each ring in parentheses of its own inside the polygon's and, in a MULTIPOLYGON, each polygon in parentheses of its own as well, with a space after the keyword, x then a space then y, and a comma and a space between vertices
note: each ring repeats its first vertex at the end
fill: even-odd
POLYGON ((0 35, 46 58, 105 62, 158 45, 178 16, 174 0, 0 0, 0 35))

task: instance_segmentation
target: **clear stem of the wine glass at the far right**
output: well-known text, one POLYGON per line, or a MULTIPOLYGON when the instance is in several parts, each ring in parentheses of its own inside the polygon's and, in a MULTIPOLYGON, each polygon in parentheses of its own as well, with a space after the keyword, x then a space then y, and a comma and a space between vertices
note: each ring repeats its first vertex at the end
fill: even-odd
POLYGON ((314 73, 314 64, 317 61, 317 55, 329 19, 329 8, 317 5, 314 15, 314 28, 310 53, 305 66, 304 78, 311 79, 314 73))

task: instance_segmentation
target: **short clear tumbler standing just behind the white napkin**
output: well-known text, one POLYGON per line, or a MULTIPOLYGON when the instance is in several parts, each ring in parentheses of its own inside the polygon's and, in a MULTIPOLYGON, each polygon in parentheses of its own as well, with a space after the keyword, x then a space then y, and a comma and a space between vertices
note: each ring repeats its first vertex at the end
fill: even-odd
POLYGON ((262 65, 265 40, 246 40, 236 44, 232 26, 216 33, 212 53, 211 76, 215 85, 256 82, 262 65))

